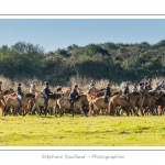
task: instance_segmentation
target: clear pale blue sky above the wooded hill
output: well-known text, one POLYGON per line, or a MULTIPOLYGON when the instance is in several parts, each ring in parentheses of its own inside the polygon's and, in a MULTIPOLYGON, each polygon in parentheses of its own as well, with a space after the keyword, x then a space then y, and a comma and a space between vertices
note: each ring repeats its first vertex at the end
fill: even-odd
POLYGON ((163 19, 0 19, 0 46, 40 44, 45 52, 72 44, 141 43, 165 38, 163 19))

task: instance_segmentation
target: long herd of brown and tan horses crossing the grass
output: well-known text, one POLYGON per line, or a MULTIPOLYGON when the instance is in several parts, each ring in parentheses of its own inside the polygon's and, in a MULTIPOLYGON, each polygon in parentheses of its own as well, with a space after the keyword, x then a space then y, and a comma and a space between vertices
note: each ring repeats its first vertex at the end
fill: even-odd
POLYGON ((94 117, 99 114, 107 116, 146 116, 165 113, 165 92, 161 90, 130 92, 129 100, 122 96, 121 91, 116 91, 110 97, 109 102, 105 101, 105 91, 97 88, 90 88, 84 92, 78 88, 79 96, 70 108, 69 94, 72 88, 65 91, 53 92, 48 95, 48 102, 45 106, 45 98, 42 92, 23 94, 22 105, 13 89, 0 92, 0 108, 2 116, 25 116, 47 113, 62 117, 65 113, 85 114, 94 117))

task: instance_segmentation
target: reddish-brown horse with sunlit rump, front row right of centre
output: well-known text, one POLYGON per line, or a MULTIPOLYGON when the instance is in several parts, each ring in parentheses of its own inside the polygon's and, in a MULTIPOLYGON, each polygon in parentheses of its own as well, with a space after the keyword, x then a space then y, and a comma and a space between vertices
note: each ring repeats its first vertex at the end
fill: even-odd
POLYGON ((116 95, 110 98, 109 105, 108 105, 108 114, 114 116, 118 114, 117 107, 121 107, 124 109, 129 116, 129 109, 133 109, 133 112, 135 116, 139 117, 138 110, 135 109, 138 99, 143 99, 144 96, 142 92, 131 92, 130 94, 130 101, 128 102, 125 98, 121 98, 120 95, 116 95))

